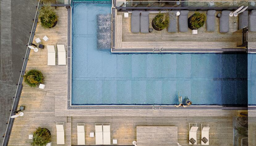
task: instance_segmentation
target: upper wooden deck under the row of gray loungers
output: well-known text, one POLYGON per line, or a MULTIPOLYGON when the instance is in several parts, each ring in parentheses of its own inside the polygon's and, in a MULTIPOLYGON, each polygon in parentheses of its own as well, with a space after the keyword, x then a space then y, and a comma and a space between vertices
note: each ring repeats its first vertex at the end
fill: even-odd
MULTIPOLYGON (((189 12, 189 16, 194 12, 189 12)), ((203 12, 205 13, 205 12, 203 12)), ((216 15, 218 12, 216 12, 216 15)), ((157 13, 149 14, 149 26, 157 13)), ((122 35, 122 40, 116 40, 115 48, 242 48, 237 47, 237 40, 241 40, 241 33, 238 30, 238 17, 229 18, 229 32, 219 32, 219 19, 215 19, 215 31, 207 32, 206 26, 198 29, 197 35, 192 35, 191 30, 188 32, 168 33, 167 30, 156 31, 148 34, 131 32, 131 14, 128 18, 124 18, 124 12, 117 12, 116 16, 116 35, 117 32, 122 35), (120 16, 119 16, 120 15, 120 16), (120 17, 122 15, 122 23, 120 17)), ((176 24, 178 30, 178 20, 176 24)), ((116 37, 120 39, 120 37, 116 37)), ((242 48, 243 49, 243 48, 242 48)))

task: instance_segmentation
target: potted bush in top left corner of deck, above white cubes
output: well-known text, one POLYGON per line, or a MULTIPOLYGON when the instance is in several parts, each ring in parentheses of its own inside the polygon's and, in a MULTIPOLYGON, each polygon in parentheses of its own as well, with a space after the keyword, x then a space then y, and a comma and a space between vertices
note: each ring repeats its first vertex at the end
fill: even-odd
POLYGON ((56 11, 51 9, 50 5, 44 5, 40 9, 38 18, 40 19, 43 28, 55 27, 58 21, 56 11))

